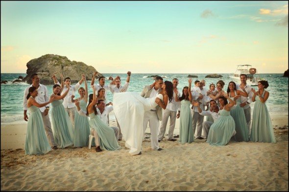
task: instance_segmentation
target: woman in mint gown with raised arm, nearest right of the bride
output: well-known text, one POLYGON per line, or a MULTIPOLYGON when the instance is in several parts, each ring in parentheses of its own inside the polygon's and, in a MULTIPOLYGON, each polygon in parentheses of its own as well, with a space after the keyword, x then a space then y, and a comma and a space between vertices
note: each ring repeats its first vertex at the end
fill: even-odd
MULTIPOLYGON (((181 102, 181 115, 180 115, 180 143, 192 143, 194 141, 193 136, 193 122, 192 122, 192 112, 190 105, 192 103, 193 97, 191 92, 192 78, 189 78, 189 86, 184 86, 183 94, 180 98, 177 98, 178 90, 174 89, 176 98, 175 101, 181 102)), ((178 118, 178 117, 177 117, 178 118)))

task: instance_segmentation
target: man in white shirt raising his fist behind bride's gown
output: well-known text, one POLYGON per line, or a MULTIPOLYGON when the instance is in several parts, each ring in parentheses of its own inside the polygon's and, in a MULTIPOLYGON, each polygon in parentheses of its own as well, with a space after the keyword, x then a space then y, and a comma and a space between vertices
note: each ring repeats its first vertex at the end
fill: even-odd
MULTIPOLYGON (((129 85, 129 80, 130 80, 130 75, 131 75, 131 72, 130 71, 127 71, 127 78, 126 78, 126 82, 125 84, 122 86, 120 85, 121 82, 120 82, 120 76, 117 76, 115 79, 113 79, 111 82, 110 82, 110 85, 109 85, 109 90, 112 92, 112 94, 114 93, 119 93, 119 92, 125 92, 128 88, 128 85, 129 85)), ((119 122, 117 120, 117 125, 118 127, 120 128, 120 125, 119 125, 119 122)), ((120 130, 120 136, 119 136, 119 141, 122 140, 122 133, 121 133, 121 130, 120 130)))

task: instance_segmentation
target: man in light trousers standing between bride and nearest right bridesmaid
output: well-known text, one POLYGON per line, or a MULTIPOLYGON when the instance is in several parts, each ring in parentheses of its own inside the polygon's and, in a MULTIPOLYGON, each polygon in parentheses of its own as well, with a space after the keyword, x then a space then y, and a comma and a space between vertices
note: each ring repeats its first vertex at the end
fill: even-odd
MULTIPOLYGON (((173 89, 177 89, 177 85, 179 84, 179 80, 177 78, 174 78, 172 80, 172 85, 173 89)), ((160 132, 159 132, 159 139, 158 142, 163 141, 163 138, 166 133, 166 128, 169 121, 169 135, 168 135, 168 141, 176 141, 175 138, 173 138, 173 130, 175 127, 175 121, 176 118, 180 117, 180 111, 181 111, 181 102, 176 102, 175 101, 175 92, 173 91, 173 100, 171 103, 168 103, 168 106, 166 109, 163 109, 163 120, 161 121, 161 126, 160 126, 160 132), (177 113, 178 111, 178 113, 177 113)), ((181 97, 181 93, 178 91, 177 97, 181 97)))

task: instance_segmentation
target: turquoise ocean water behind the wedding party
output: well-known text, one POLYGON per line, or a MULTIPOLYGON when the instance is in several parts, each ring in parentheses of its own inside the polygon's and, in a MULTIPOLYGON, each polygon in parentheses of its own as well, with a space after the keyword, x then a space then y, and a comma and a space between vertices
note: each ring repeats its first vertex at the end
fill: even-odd
MULTIPOLYGON (((107 79, 109 76, 115 78, 120 76, 122 84, 124 84, 127 75, 126 74, 105 74, 102 73, 107 79)), ((178 88, 181 91, 184 86, 188 85, 188 75, 189 74, 131 74, 130 83, 127 91, 134 91, 141 93, 145 85, 150 85, 153 83, 153 78, 149 77, 152 75, 159 75, 164 78, 164 81, 172 81, 173 78, 179 80, 178 88)), ((222 78, 205 78, 208 74, 193 74, 197 75, 197 78, 192 78, 193 82, 195 80, 206 81, 205 87, 209 89, 211 83, 217 84, 218 80, 223 80, 225 86, 224 91, 227 91, 227 87, 232 79, 229 77, 230 74, 219 74, 222 75, 222 78)), ((19 76, 25 77, 25 73, 1 73, 1 81, 8 81, 7 84, 1 84, 1 125, 5 124, 19 124, 26 123, 23 119, 23 94, 24 89, 28 86, 26 83, 15 83, 12 82, 18 79, 19 76)), ((268 88, 270 95, 266 101, 266 106, 270 114, 278 115, 280 117, 288 117, 288 78, 282 77, 283 74, 260 74, 260 77, 265 78, 268 81, 268 88)), ((60 78, 58 77, 60 80, 60 78)), ((51 84, 52 84, 51 80, 51 84)), ((90 86, 91 81, 88 83, 88 92, 92 93, 92 88, 90 86)), ((96 80, 95 83, 98 83, 96 80)), ((106 80, 105 85, 109 85, 110 81, 106 80)), ((40 81, 41 84, 41 81, 40 81)), ((72 84, 73 85, 73 84, 72 84)), ((47 85, 49 96, 52 94, 52 86, 47 85)), ((84 87, 84 83, 82 85, 84 87)), ((258 90, 257 86, 254 86, 258 90)), ((107 93, 108 102, 112 102, 112 93, 108 91, 107 93)), ((75 92, 76 98, 79 97, 78 92, 75 92)), ((251 104, 251 109, 253 112, 254 103, 251 104)))

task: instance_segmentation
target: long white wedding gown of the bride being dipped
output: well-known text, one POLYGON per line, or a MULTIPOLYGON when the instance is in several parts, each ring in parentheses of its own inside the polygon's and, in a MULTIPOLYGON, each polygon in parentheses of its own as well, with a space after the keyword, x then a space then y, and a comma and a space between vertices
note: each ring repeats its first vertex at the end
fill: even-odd
MULTIPOLYGON (((163 100, 162 94, 156 97, 163 100)), ((142 151, 145 111, 158 105, 155 103, 156 97, 144 98, 136 92, 120 92, 113 96, 115 116, 121 127, 125 147, 130 149, 131 155, 142 151)))

